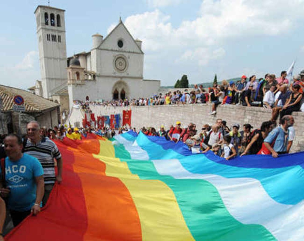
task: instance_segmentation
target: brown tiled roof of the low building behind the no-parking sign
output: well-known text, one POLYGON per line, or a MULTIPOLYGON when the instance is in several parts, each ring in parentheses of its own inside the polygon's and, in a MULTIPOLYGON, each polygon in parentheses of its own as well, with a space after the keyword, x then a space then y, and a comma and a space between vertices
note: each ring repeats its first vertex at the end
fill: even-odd
POLYGON ((14 97, 16 95, 21 95, 23 97, 25 112, 43 112, 44 110, 53 109, 59 106, 59 104, 39 95, 34 95, 29 91, 0 85, 0 97, 2 99, 0 108, 2 112, 12 111, 14 97))

